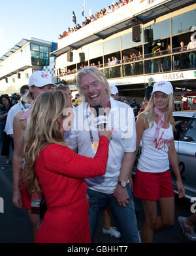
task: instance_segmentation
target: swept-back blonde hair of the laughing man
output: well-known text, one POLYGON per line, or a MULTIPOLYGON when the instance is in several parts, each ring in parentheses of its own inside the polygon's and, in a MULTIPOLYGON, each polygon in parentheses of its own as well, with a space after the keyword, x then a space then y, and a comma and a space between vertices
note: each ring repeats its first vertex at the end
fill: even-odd
POLYGON ((110 92, 110 86, 109 83, 107 81, 107 79, 105 78, 105 76, 103 75, 103 73, 95 67, 92 66, 87 66, 85 68, 82 68, 82 70, 80 70, 80 72, 78 72, 77 74, 77 78, 76 78, 76 87, 78 88, 78 92, 80 95, 80 98, 82 101, 86 101, 84 98, 84 95, 82 93, 82 89, 80 88, 80 79, 83 75, 91 75, 92 77, 94 77, 95 79, 97 79, 98 81, 100 81, 101 83, 103 83, 103 85, 105 86, 106 92, 108 95, 111 95, 110 92))

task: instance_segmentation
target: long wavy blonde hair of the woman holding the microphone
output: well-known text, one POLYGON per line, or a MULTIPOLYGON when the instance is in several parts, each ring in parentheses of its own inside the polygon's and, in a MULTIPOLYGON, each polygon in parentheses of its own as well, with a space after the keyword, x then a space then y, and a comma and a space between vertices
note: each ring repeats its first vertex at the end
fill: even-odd
POLYGON ((35 161, 42 148, 52 143, 65 145, 57 119, 63 116, 63 110, 68 107, 68 104, 69 98, 61 90, 41 93, 33 104, 24 145, 25 169, 23 174, 25 185, 31 193, 41 192, 35 173, 35 161))

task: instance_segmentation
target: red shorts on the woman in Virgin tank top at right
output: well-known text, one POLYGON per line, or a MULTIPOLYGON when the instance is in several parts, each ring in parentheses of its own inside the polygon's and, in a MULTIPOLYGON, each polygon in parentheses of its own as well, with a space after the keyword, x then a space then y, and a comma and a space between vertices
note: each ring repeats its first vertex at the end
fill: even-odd
POLYGON ((174 196, 170 171, 147 173, 137 169, 133 186, 133 195, 144 200, 158 200, 174 196))

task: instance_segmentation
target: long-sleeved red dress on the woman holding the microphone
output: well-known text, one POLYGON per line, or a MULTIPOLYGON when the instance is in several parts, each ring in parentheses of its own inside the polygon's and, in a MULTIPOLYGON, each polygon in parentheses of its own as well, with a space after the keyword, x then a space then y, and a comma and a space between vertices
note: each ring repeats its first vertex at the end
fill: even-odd
POLYGON ((108 139, 101 136, 94 158, 78 155, 58 144, 43 148, 35 171, 48 209, 36 242, 91 242, 84 179, 105 174, 108 144, 108 139))

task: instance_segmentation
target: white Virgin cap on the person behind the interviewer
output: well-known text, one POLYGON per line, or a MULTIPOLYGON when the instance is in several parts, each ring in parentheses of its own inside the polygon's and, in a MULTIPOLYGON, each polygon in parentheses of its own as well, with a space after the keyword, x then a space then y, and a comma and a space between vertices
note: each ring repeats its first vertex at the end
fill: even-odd
POLYGON ((36 87, 43 87, 45 85, 56 86, 56 84, 52 82, 52 77, 42 70, 34 72, 29 77, 29 87, 32 85, 35 85, 36 87))

